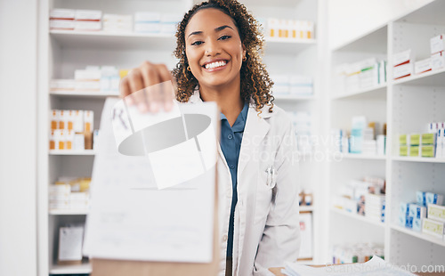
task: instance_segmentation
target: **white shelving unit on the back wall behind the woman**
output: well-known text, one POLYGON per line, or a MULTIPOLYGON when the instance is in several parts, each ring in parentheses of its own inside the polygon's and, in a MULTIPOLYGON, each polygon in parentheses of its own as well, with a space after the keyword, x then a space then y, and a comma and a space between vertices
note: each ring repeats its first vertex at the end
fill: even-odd
MULTIPOLYGON (((49 82, 54 78, 73 78, 75 69, 87 65, 115 65, 119 69, 137 67, 142 61, 166 63, 174 68, 176 60, 172 53, 175 47, 173 35, 111 33, 105 31, 85 32, 72 30, 49 30, 49 11, 53 8, 94 9, 103 13, 134 14, 136 11, 185 12, 198 0, 45 0, 39 3, 39 147, 38 171, 46 172, 38 179, 38 275, 90 273, 91 266, 84 264, 59 265, 57 263, 58 228, 66 223, 83 223, 87 210, 49 210, 48 185, 61 176, 91 176, 94 150, 48 150, 49 111, 93 110, 94 129, 101 122, 101 110, 107 97, 116 93, 77 93, 71 91, 50 92, 49 82)), ((276 17, 316 21, 315 34, 318 36, 319 1, 279 0, 241 1, 258 17, 276 17)), ((314 77, 315 93, 310 96, 279 96, 275 103, 284 110, 311 111, 315 122, 313 134, 320 133, 321 118, 320 69, 318 61, 320 44, 318 40, 297 40, 266 37, 264 62, 270 72, 308 74, 314 77), (283 62, 285 61, 285 62, 283 62), (302 66, 311 62, 311 66, 302 66), (285 66, 283 66, 285 64, 285 66)), ((307 168, 313 164, 304 165, 307 168)), ((320 189, 317 169, 304 169, 303 188, 312 188, 314 198, 320 189)), ((303 212, 312 212, 313 229, 320 229, 320 205, 301 207, 303 212)), ((313 235, 317 235, 315 232, 313 235)), ((320 262, 320 242, 314 239, 314 262, 320 262)))

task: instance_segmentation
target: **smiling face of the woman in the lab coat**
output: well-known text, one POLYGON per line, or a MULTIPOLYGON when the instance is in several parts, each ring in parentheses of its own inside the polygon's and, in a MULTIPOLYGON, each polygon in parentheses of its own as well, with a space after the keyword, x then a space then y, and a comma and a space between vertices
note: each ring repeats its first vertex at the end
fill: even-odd
POLYGON ((199 85, 221 87, 239 82, 246 55, 231 17, 207 8, 197 12, 185 28, 185 54, 199 85))

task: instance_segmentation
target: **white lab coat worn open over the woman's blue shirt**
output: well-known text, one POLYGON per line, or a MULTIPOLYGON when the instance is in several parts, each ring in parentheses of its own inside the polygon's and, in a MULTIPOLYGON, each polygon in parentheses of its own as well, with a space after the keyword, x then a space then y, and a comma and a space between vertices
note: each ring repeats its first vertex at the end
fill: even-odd
MULTIPOLYGON (((191 103, 201 102, 198 90, 191 103)), ((238 166, 233 276, 273 275, 269 267, 295 261, 300 248, 298 164, 292 123, 284 110, 250 103, 238 166), (271 171, 274 170, 275 174, 271 171), (268 173, 269 172, 269 173, 268 173)), ((220 275, 225 275, 231 215, 231 172, 218 147, 220 275)))

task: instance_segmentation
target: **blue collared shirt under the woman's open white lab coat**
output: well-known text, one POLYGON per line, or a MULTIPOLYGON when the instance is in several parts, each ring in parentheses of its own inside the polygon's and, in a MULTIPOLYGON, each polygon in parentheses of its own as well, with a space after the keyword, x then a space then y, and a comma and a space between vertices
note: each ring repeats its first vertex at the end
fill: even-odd
POLYGON ((239 113, 239 116, 233 126, 229 124, 229 121, 221 113, 221 150, 223 150, 224 158, 227 161, 227 165, 231 169, 231 186, 233 190, 233 196, 231 199, 231 219, 229 222, 229 234, 227 239, 227 256, 232 256, 233 252, 233 221, 235 215, 235 206, 238 201, 237 193, 237 171, 238 171, 238 159, 239 150, 241 149, 241 140, 243 138, 244 127, 247 120, 248 103, 246 102, 243 110, 239 113))

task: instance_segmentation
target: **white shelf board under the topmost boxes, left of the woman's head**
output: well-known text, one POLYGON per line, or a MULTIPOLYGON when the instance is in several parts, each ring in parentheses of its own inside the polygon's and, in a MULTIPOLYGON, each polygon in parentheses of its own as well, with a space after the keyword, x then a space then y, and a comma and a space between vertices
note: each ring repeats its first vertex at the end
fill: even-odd
POLYGON ((161 50, 173 52, 176 39, 172 34, 133 32, 50 30, 63 48, 95 50, 161 50))

